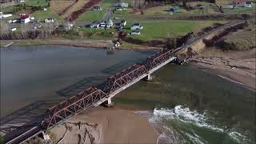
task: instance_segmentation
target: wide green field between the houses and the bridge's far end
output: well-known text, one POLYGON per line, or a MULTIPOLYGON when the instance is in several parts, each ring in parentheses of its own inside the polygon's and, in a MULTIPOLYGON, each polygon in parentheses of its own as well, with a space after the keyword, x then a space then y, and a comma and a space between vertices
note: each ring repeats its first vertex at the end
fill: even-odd
MULTIPOLYGON (((140 35, 130 35, 132 38, 152 40, 170 38, 185 35, 189 32, 198 33, 204 27, 212 26, 217 21, 142 21, 143 30, 140 35)), ((134 22, 128 22, 126 32, 130 32, 130 26, 134 22)), ((221 21, 220 23, 223 23, 221 21)))

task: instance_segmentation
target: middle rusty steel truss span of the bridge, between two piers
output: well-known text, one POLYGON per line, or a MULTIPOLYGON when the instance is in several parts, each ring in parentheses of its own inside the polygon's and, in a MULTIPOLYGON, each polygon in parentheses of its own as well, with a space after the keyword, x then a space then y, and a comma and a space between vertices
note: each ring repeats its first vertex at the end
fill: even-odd
POLYGON ((135 64, 130 66, 126 70, 123 70, 122 72, 108 78, 104 84, 103 91, 106 92, 106 94, 110 94, 134 79, 140 77, 142 74, 146 74, 146 72, 147 70, 144 65, 135 64))

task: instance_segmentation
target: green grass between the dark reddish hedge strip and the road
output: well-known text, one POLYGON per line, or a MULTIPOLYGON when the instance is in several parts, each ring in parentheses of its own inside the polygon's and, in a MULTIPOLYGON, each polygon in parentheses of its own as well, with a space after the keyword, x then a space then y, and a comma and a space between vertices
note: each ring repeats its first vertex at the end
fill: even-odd
POLYGON ((93 11, 87 10, 85 13, 81 14, 77 22, 94 22, 94 21, 101 21, 104 14, 106 14, 106 10, 115 2, 115 0, 103 0, 97 6, 102 7, 102 11, 93 11))

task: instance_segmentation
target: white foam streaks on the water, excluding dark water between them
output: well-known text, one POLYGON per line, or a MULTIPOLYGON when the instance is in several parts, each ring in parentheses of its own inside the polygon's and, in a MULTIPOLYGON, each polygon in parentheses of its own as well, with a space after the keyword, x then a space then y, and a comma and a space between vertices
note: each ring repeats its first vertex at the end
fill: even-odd
MULTIPOLYGON (((160 108, 154 109, 153 114, 150 111, 139 111, 138 114, 146 115, 146 118, 149 119, 149 122, 158 130, 159 137, 158 141, 167 142, 167 143, 185 143, 185 138, 182 138, 182 134, 178 134, 177 131, 171 127, 165 126, 164 123, 166 120, 178 120, 180 122, 191 123, 192 125, 210 129, 212 131, 227 134, 235 142, 244 143, 249 140, 235 130, 228 130, 225 126, 215 126, 210 122, 210 118, 206 117, 206 112, 199 113, 196 110, 190 110, 185 106, 175 106, 174 109, 165 109, 160 108), (151 114, 150 114, 151 113, 151 114)), ((182 131, 179 131, 182 133, 182 131)), ((207 143, 203 138, 198 136, 193 130, 192 134, 185 133, 187 138, 190 139, 193 143, 207 143)))

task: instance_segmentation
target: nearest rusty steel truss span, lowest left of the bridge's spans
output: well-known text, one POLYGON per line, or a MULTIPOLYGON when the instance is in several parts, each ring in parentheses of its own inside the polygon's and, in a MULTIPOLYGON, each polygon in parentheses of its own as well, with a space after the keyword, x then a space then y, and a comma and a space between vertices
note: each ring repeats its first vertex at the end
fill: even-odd
POLYGON ((106 94, 102 90, 91 86, 81 93, 48 109, 41 126, 45 130, 49 129, 51 126, 56 126, 66 118, 78 114, 104 97, 106 97, 106 94))

